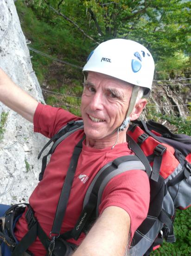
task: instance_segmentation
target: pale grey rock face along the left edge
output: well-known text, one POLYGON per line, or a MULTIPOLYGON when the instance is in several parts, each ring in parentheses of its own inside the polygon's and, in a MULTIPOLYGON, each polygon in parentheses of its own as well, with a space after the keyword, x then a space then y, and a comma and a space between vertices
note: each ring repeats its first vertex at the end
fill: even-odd
MULTIPOLYGON (((44 102, 13 0, 0 0, 0 67, 38 101, 44 102)), ((28 202, 38 183, 37 160, 46 139, 0 102, 0 203, 28 202)))

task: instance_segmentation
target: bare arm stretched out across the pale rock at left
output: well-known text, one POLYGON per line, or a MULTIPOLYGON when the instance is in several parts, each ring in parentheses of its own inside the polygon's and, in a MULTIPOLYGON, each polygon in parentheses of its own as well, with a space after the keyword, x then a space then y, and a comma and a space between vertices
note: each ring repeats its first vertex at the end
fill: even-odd
POLYGON ((0 68, 0 101, 7 107, 33 122, 38 101, 19 88, 0 68))

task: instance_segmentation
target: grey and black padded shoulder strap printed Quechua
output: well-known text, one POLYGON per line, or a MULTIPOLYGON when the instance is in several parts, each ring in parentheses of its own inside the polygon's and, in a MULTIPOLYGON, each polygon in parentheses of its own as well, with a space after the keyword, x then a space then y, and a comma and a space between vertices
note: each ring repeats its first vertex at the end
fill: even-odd
POLYGON ((125 155, 116 158, 113 162, 105 165, 95 176, 89 189, 86 192, 83 201, 83 211, 76 222, 74 229, 62 234, 64 239, 78 239, 84 229, 89 229, 89 224, 96 215, 98 216, 98 207, 102 199, 102 193, 107 183, 116 175, 129 170, 140 169, 145 171, 146 168, 136 155, 125 155))

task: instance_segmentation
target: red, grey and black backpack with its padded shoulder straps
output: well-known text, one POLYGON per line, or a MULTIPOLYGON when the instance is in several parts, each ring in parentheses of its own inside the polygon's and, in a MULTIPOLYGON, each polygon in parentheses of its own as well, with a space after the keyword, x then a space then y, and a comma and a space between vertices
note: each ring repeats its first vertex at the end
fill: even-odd
MULTIPOLYGON (((47 156, 57 145, 78 129, 83 121, 71 121, 54 135, 38 155, 51 144, 42 159, 39 180, 43 178, 47 156)), ((106 164, 89 185, 83 201, 83 211, 74 229, 60 235, 63 239, 78 239, 98 217, 102 193, 115 175, 132 169, 146 171, 150 182, 150 204, 146 219, 135 231, 129 255, 149 255, 163 242, 174 243, 173 221, 176 209, 191 206, 191 137, 172 134, 165 126, 149 120, 134 121, 127 131, 129 147, 135 155, 122 156, 106 164)), ((55 221, 54 221, 55 222, 55 221)))

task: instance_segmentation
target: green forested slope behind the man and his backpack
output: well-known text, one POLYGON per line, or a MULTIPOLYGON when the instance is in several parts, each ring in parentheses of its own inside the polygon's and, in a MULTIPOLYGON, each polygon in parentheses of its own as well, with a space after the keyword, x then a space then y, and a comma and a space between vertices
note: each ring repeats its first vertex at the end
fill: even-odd
MULTIPOLYGON (((154 85, 181 92, 179 104, 185 105, 184 116, 173 108, 171 113, 149 108, 146 118, 168 121, 176 132, 191 135, 189 0, 17 0, 15 5, 47 104, 81 115, 81 67, 89 53, 108 39, 135 40, 153 54, 154 85)), ((165 100, 162 94, 160 105, 165 100)), ((175 244, 164 243, 153 255, 191 255, 191 209, 178 210, 175 235, 175 244)))

